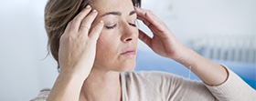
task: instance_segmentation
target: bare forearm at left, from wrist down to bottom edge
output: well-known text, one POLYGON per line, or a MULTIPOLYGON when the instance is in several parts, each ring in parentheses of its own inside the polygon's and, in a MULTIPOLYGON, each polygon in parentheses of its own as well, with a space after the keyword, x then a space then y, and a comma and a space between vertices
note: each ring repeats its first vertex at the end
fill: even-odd
POLYGON ((59 73, 48 101, 78 101, 84 77, 75 73, 59 73))

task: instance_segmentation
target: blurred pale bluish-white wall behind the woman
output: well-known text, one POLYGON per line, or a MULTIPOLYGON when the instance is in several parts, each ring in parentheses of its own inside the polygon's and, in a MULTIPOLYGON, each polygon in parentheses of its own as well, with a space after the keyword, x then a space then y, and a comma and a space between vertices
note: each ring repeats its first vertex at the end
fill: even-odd
MULTIPOLYGON (((25 101, 51 87, 58 72, 47 56, 44 29, 47 0, 12 0, 0 4, 0 100, 25 101), (44 59, 45 58, 45 59, 44 59)), ((256 35, 255 0, 143 0, 185 45, 200 36, 256 35)), ((149 30, 139 24, 149 35, 149 30)), ((254 36, 254 37, 253 37, 254 36)), ((143 43, 139 50, 151 51, 143 43)), ((195 48, 197 49, 197 48, 195 48)))

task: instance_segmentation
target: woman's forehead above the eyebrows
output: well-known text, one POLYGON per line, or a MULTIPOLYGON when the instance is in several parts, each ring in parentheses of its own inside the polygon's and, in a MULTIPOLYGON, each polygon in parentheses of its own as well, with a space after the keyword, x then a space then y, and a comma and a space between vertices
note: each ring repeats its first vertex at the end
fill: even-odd
POLYGON ((134 10, 132 0, 94 0, 92 7, 99 12, 99 15, 113 11, 129 15, 134 10))

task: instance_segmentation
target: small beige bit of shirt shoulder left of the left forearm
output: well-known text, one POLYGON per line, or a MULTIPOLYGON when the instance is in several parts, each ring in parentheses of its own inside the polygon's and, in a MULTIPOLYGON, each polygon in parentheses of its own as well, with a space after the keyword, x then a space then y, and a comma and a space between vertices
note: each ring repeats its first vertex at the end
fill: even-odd
POLYGON ((37 97, 31 99, 30 101, 46 101, 49 93, 50 93, 50 89, 44 88, 39 92, 37 97))

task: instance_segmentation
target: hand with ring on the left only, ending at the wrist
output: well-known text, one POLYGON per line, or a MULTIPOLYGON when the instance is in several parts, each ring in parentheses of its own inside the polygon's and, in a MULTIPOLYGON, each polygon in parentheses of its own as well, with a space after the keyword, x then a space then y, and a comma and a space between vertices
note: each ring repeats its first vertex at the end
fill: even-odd
POLYGON ((98 12, 91 11, 89 5, 67 25, 59 41, 60 74, 75 73, 84 79, 89 76, 96 55, 96 43, 104 25, 101 21, 91 27, 97 15, 98 12))

